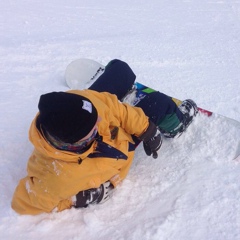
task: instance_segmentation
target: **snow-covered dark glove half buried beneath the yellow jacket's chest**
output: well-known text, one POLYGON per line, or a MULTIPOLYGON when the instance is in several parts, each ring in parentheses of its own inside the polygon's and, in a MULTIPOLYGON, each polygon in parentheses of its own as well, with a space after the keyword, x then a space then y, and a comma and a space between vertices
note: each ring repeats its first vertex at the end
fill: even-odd
POLYGON ((100 185, 99 188, 91 188, 88 190, 80 191, 76 195, 76 208, 87 207, 89 204, 97 204, 106 202, 113 190, 113 185, 107 181, 100 185))

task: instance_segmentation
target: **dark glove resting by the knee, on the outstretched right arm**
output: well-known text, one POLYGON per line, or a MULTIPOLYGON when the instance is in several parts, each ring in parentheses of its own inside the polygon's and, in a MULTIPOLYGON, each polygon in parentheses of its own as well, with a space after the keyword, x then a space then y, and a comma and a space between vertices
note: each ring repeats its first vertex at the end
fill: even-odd
POLYGON ((157 151, 162 145, 161 133, 158 127, 151 121, 147 130, 139 137, 143 141, 143 148, 148 156, 157 158, 157 151))

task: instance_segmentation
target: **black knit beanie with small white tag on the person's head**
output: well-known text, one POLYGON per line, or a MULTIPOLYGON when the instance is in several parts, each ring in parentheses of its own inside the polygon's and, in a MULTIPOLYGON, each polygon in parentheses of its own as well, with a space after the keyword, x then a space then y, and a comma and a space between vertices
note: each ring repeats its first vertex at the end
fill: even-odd
POLYGON ((40 97, 38 123, 53 137, 65 143, 84 138, 97 122, 98 114, 88 98, 51 92, 40 97))

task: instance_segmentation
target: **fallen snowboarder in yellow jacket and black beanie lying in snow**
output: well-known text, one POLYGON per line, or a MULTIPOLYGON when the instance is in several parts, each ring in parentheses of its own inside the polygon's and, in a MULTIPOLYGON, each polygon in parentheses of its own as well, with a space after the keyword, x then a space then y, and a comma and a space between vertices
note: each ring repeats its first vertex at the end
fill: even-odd
POLYGON ((155 92, 133 107, 119 100, 134 81, 128 64, 113 60, 89 89, 40 97, 29 130, 34 151, 28 175, 12 199, 16 212, 35 215, 103 203, 126 178, 141 141, 156 158, 162 135, 186 130, 197 114, 192 100, 177 107, 155 92))

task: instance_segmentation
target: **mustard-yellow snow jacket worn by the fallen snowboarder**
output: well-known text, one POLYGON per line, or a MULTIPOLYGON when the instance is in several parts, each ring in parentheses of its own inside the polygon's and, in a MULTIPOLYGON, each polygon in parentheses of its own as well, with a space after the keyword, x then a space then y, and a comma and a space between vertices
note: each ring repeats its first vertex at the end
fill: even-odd
POLYGON ((12 208, 20 214, 62 211, 71 208, 71 199, 79 191, 97 188, 108 180, 114 186, 119 184, 134 157, 134 151, 129 151, 131 134, 139 136, 148 127, 148 117, 142 109, 119 102, 115 95, 91 90, 69 92, 82 95, 94 104, 101 117, 98 133, 102 141, 118 149, 126 159, 88 157, 94 153, 96 141, 82 154, 57 150, 38 131, 37 114, 29 130, 35 148, 28 161, 28 175, 20 180, 12 199, 12 208), (111 139, 111 130, 116 127, 117 136, 111 139))

